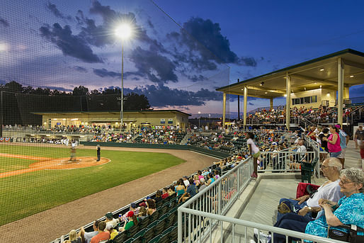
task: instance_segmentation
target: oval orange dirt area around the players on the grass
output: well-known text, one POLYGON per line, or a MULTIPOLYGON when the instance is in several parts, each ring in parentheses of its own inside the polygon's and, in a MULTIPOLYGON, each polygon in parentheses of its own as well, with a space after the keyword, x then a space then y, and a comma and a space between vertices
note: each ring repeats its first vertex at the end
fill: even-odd
POLYGON ((96 157, 76 157, 74 161, 70 161, 69 157, 62 159, 52 159, 46 161, 35 162, 29 165, 29 168, 42 168, 42 169, 78 169, 89 166, 96 166, 110 162, 110 159, 101 158, 96 161, 96 157))

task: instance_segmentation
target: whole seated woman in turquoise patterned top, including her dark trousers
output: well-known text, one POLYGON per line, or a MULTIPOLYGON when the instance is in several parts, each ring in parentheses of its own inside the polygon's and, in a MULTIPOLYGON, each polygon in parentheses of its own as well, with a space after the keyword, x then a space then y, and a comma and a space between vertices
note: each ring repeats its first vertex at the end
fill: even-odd
MULTIPOLYGON (((297 232, 305 232, 319 237, 327 237, 328 228, 347 232, 338 226, 340 225, 356 225, 364 227, 364 173, 360 169, 343 169, 340 172, 339 186, 343 193, 343 198, 335 203, 331 200, 320 199, 319 205, 323 208, 317 215, 316 220, 306 217, 300 217, 288 213, 284 215, 274 225, 287 230, 295 230, 297 232)), ((254 230, 257 233, 257 230, 254 230)), ((363 234, 358 232, 358 234, 363 234)), ((291 237, 289 237, 289 241, 291 237)), ((271 235, 266 237, 271 242, 271 235)), ((297 239, 299 240, 299 239, 297 239)), ((286 242, 285 235, 274 234, 274 242, 286 242)), ((307 241, 309 242, 309 241, 307 241)))

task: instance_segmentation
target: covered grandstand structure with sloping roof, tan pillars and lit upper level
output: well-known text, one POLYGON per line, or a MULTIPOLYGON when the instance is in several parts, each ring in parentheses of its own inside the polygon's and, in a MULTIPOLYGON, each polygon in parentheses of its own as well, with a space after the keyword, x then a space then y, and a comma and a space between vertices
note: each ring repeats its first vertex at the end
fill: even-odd
MULTIPOLYGON (((226 95, 244 96, 244 128, 246 127, 247 97, 273 99, 285 96, 289 111, 292 106, 336 106, 338 123, 343 123, 343 104, 350 102, 349 87, 364 84, 364 53, 341 50, 307 62, 285 67, 268 74, 223 86, 222 123, 225 124, 226 95)), ((290 113, 286 112, 290 129, 290 113)))

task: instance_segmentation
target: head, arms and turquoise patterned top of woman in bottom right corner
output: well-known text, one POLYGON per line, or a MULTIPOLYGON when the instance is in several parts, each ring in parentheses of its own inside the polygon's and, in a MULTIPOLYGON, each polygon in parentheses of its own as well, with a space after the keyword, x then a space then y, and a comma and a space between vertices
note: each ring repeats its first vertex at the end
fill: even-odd
MULTIPOLYGON (((344 169, 340 173, 339 186, 345 196, 338 203, 319 200, 324 209, 323 215, 307 224, 305 232, 327 237, 327 229, 341 230, 336 226, 357 225, 364 227, 364 173, 360 169, 344 169)), ((360 232, 358 232, 360 234, 360 232)))

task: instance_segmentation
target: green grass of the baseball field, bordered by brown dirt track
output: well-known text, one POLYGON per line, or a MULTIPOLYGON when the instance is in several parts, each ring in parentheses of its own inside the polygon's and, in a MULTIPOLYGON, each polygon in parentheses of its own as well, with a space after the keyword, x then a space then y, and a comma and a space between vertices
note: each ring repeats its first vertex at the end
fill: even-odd
MULTIPOLYGON (((69 149, 57 147, 1 145, 0 153, 69 157, 69 149)), ((96 157, 96 149, 77 149, 76 155, 96 157)), ((83 169, 35 171, 0 179, 0 225, 184 162, 171 154, 152 152, 101 150, 101 157, 111 162, 83 169)), ((33 162, 0 157, 0 172, 25 169, 33 162)))

